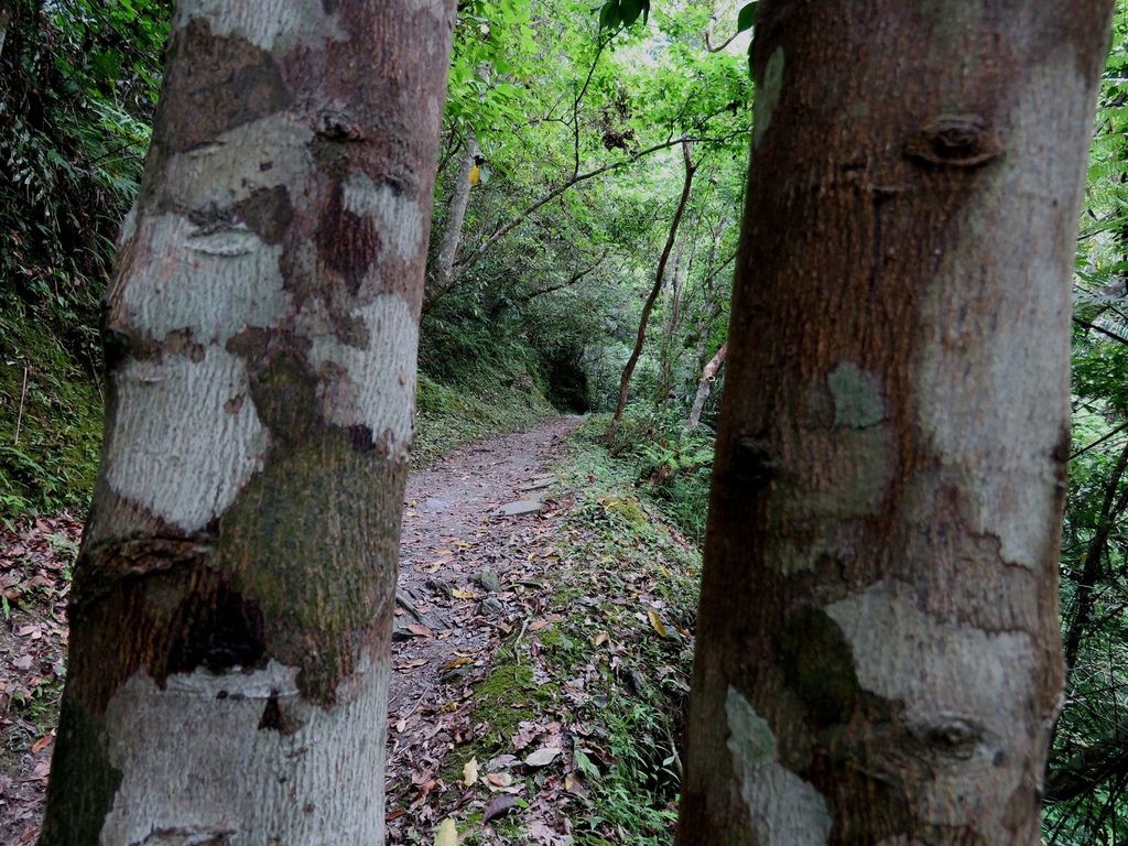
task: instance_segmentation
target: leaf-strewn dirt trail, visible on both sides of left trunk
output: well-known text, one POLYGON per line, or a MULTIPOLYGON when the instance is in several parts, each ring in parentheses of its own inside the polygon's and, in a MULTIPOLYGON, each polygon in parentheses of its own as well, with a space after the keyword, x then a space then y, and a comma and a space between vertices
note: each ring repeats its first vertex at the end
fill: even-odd
MULTIPOLYGON (((547 469, 579 423, 556 418, 462 448, 408 481, 388 708, 391 841, 423 821, 415 811, 442 784, 448 751, 470 737, 469 682, 488 667, 500 637, 543 601, 528 556, 550 543, 559 492, 547 469), (536 510, 502 513, 520 501, 536 510)), ((0 531, 0 588, 21 600, 0 626, 0 846, 25 846, 38 834, 51 735, 8 706, 18 695, 42 700, 52 677, 62 678, 62 574, 79 531, 69 515, 0 531)), ((56 715, 42 719, 53 725, 56 715)))

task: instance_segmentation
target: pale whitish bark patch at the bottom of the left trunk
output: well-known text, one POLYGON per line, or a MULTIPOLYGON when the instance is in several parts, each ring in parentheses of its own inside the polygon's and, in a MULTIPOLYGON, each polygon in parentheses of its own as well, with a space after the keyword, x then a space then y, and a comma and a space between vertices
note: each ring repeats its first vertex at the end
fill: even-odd
POLYGON ((349 820, 350 843, 379 843, 384 805, 372 796, 384 779, 387 668, 365 662, 350 695, 328 710, 302 700, 297 672, 272 661, 250 672, 199 669, 164 687, 139 671, 122 685, 103 721, 121 784, 98 841, 144 843, 166 830, 231 843, 338 843, 349 820), (261 730, 272 707, 288 711, 291 731, 261 730), (139 747, 139 735, 150 744, 139 747), (306 779, 329 786, 324 773, 333 774, 331 788, 293 801, 306 779))

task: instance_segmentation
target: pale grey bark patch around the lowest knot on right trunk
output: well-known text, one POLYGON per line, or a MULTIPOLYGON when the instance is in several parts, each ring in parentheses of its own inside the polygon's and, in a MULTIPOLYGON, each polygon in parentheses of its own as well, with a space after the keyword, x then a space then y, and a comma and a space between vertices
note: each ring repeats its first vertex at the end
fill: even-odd
POLYGON ((1010 843, 996 797, 1034 777, 1024 750, 1045 729, 1045 715, 1030 707, 1039 684, 1031 637, 937 622, 899 582, 873 584, 826 613, 849 643, 858 684, 900 703, 900 722, 923 758, 909 766, 887 749, 890 757, 874 761, 875 769, 899 774, 917 797, 922 822, 966 826, 985 843, 1010 843))

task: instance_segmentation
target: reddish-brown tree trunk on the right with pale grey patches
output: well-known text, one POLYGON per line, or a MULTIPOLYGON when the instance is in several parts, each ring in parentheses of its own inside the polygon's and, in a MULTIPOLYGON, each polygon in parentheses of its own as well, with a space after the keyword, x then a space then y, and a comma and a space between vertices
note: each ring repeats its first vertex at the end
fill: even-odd
POLYGON ((1110 11, 760 3, 681 846, 1039 841, 1110 11))

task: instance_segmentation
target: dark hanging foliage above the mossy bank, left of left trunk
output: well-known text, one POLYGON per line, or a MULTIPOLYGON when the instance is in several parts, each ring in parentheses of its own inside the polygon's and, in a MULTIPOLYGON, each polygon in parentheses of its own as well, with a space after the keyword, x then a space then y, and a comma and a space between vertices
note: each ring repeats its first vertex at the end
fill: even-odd
POLYGON ((168 0, 19 0, 0 55, 0 273, 94 372, 97 301, 140 183, 168 0))

